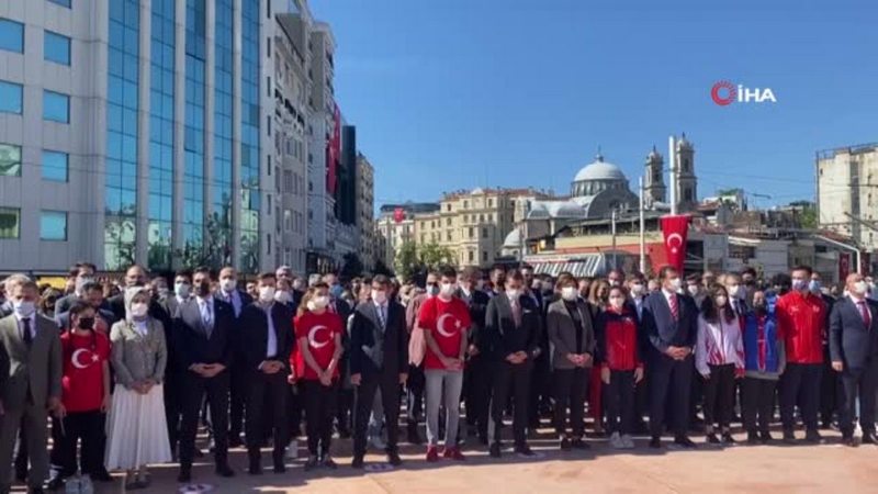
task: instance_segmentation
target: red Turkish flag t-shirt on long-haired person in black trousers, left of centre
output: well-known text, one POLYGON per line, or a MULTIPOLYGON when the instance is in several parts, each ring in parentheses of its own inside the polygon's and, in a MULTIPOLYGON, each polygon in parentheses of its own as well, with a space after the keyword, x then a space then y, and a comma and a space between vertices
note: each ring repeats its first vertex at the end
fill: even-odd
MULTIPOLYGON (((297 316, 294 322, 295 339, 308 339, 308 350, 317 362, 320 369, 329 367, 333 360, 333 353, 336 351, 336 335, 341 334, 341 317, 338 314, 325 311, 323 314, 315 314, 313 312, 305 312, 297 316)), ((295 368, 295 375, 302 379, 318 381, 320 378, 314 369, 305 362, 305 357, 299 350, 300 345, 296 345, 296 350, 290 357, 290 364, 295 368)), ((338 366, 336 366, 333 379, 338 378, 338 366)))

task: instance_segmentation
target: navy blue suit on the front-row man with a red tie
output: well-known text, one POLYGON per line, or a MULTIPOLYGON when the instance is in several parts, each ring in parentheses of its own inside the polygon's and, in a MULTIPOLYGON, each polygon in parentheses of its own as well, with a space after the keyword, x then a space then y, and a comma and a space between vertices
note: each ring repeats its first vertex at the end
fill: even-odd
POLYGON ((665 351, 668 347, 695 347, 698 336, 698 308, 695 301, 683 294, 677 297, 678 317, 663 291, 650 294, 643 301, 641 315, 649 340, 648 369, 650 369, 650 433, 657 438, 663 433, 666 401, 671 392, 671 409, 676 437, 685 437, 689 426, 689 394, 691 391, 693 353, 674 360, 665 351))

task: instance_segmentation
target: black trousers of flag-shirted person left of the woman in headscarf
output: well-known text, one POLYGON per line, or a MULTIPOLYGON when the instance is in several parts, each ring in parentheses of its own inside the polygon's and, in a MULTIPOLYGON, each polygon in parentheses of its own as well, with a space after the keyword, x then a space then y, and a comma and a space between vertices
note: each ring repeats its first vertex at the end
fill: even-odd
MULTIPOLYGON (((59 431, 60 440, 53 445, 53 450, 57 450, 59 476, 64 479, 75 475, 80 470, 80 465, 83 474, 97 474, 103 470, 104 441, 102 438, 105 417, 106 415, 100 411, 71 412, 64 417, 65 434, 59 431), (81 461, 77 461, 77 444, 80 440, 82 441, 81 461)), ((53 431, 54 429, 53 426, 53 431)))

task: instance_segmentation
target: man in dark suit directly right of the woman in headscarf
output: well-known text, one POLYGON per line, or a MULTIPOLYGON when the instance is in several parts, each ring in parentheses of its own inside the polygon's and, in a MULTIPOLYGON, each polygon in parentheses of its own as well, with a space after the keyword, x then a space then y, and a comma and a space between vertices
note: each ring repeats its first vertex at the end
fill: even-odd
POLYGON ((183 420, 180 427, 180 482, 192 479, 195 431, 204 395, 211 407, 216 444, 216 473, 233 476, 228 468, 228 386, 235 310, 211 295, 211 272, 193 274, 195 296, 180 305, 175 318, 177 360, 187 372, 180 386, 183 420))

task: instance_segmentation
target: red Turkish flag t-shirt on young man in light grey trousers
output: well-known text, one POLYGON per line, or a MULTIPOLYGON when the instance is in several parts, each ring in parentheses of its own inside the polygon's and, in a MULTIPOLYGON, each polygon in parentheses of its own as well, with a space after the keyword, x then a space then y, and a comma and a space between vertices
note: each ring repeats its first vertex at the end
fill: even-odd
MULTIPOLYGON (((432 296, 424 301, 418 313, 418 327, 429 332, 442 355, 452 359, 460 357, 461 339, 470 329, 470 310, 458 297, 446 302, 432 296)), ((444 369, 442 361, 432 352, 429 345, 424 357, 424 368, 444 369)))

